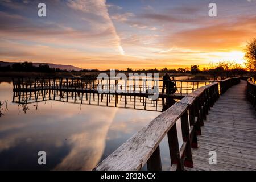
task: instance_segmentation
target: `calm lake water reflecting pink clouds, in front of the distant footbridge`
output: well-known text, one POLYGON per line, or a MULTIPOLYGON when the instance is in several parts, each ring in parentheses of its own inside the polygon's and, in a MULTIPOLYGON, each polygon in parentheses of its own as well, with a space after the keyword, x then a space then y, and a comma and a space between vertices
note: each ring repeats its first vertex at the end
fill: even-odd
MULTIPOLYGON (((24 108, 12 100, 12 83, 1 82, 1 170, 90 170, 160 114, 53 100, 24 108), (46 151, 46 165, 38 164, 39 151, 46 151)), ((180 122, 177 128, 181 135, 180 122)), ((168 170, 167 137, 160 151, 163 169, 168 170)))

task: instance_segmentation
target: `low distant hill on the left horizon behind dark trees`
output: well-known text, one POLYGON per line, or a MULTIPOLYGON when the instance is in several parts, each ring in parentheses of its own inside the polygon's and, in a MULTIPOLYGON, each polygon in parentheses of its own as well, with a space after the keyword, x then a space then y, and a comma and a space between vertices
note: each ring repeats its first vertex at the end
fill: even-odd
MULTIPOLYGON (((0 67, 6 67, 8 65, 12 65, 14 63, 18 63, 18 62, 3 62, 3 61, 0 61, 0 67)), ((33 63, 33 65, 35 67, 38 67, 39 64, 48 64, 49 67, 51 68, 59 68, 59 69, 67 69, 67 70, 75 70, 75 71, 80 71, 82 68, 79 68, 79 67, 74 67, 72 65, 64 65, 64 64, 53 64, 53 63, 33 63)))

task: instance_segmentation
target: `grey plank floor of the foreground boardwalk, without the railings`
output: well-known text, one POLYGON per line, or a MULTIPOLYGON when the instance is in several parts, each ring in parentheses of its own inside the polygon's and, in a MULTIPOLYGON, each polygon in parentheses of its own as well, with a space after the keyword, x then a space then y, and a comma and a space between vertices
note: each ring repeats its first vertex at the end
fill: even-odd
POLYGON ((198 149, 192 149, 193 168, 187 170, 256 170, 256 114, 246 99, 247 82, 234 85, 209 111, 198 149), (209 151, 217 164, 210 165, 209 151))

